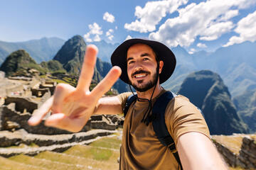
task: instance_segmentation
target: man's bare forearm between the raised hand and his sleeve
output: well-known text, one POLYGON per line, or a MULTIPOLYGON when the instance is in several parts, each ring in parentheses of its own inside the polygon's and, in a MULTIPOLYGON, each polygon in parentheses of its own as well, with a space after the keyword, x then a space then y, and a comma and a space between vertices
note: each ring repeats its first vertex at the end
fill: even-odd
POLYGON ((100 98, 98 101, 94 115, 117 115, 122 113, 122 103, 117 96, 100 98))

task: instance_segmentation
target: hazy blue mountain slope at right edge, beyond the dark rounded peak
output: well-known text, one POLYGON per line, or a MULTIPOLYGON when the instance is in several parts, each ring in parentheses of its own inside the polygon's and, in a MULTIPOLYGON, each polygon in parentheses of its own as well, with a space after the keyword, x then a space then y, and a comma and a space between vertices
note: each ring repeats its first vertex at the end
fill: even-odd
POLYGON ((248 125, 250 133, 256 132, 256 90, 245 91, 233 99, 238 115, 248 125))

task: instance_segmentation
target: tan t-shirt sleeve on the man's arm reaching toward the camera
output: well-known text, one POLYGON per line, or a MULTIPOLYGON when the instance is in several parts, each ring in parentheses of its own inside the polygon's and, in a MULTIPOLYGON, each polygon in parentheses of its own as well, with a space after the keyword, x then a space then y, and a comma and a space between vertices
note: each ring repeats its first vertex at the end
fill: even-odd
POLYGON ((186 132, 200 132, 210 139, 210 132, 201 111, 188 98, 177 96, 166 108, 166 126, 175 145, 186 132))

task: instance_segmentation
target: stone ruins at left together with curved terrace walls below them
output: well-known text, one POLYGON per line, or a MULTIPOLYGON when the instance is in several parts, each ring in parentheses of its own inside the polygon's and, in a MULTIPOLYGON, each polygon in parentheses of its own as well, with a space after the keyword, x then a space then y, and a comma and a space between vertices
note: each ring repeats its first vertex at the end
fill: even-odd
POLYGON ((38 80, 35 77, 4 79, 4 82, 0 82, 0 85, 5 87, 0 91, 1 156, 37 154, 44 150, 60 152, 78 143, 85 144, 97 136, 110 135, 116 132, 117 128, 122 127, 120 122, 123 122, 123 119, 118 115, 92 115, 78 133, 47 127, 44 125, 44 120, 39 125, 30 126, 27 123, 28 119, 53 95, 57 84, 44 79, 38 80), (19 81, 22 83, 18 83, 19 81), (39 148, 36 151, 25 148, 22 152, 8 148, 31 143, 38 145, 39 148))

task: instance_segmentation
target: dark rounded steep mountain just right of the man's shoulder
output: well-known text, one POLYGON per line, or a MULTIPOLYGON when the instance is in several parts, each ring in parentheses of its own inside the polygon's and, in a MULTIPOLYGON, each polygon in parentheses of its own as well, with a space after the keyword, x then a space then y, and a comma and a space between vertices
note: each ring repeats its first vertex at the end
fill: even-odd
POLYGON ((208 70, 193 72, 183 81, 178 94, 201 108, 211 135, 248 132, 231 101, 228 87, 218 74, 208 70))

